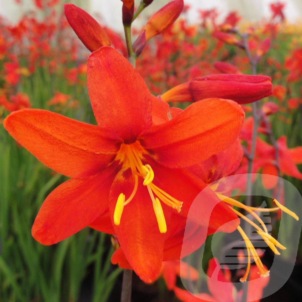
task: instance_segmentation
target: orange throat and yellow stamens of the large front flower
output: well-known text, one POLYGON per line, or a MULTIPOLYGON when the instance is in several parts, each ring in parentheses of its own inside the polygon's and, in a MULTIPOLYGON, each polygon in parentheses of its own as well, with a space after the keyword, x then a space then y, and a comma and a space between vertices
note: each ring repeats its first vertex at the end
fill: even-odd
POLYGON ((118 196, 113 215, 114 224, 117 226, 120 224, 120 218, 122 216, 124 206, 129 204, 129 202, 135 196, 139 179, 142 178, 143 185, 146 186, 153 204, 153 210, 156 216, 159 231, 160 233, 166 233, 167 225, 161 202, 180 212, 182 208, 182 201, 177 200, 153 184, 153 169, 149 164, 143 164, 142 162, 144 160, 144 155, 146 154, 148 154, 148 152, 141 146, 139 141, 136 141, 132 144, 122 144, 119 152, 117 153, 116 160, 120 161, 122 164, 122 169, 131 169, 132 171, 134 177, 134 188, 127 200, 124 193, 120 193, 118 196))

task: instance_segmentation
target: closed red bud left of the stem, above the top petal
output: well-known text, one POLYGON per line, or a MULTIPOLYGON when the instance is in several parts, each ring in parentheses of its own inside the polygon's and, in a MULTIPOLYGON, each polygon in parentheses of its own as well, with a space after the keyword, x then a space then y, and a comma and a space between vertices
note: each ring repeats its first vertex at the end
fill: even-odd
POLYGON ((108 35, 90 14, 71 3, 64 4, 64 9, 68 23, 91 52, 110 46, 108 35))

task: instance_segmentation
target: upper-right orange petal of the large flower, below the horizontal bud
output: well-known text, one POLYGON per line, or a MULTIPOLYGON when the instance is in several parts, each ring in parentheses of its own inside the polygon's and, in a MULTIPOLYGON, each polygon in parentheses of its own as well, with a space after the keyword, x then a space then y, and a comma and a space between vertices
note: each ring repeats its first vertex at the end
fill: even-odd
POLYGON ((153 126, 139 139, 161 164, 188 167, 230 146, 243 119, 244 111, 234 101, 207 99, 191 104, 169 122, 153 126))

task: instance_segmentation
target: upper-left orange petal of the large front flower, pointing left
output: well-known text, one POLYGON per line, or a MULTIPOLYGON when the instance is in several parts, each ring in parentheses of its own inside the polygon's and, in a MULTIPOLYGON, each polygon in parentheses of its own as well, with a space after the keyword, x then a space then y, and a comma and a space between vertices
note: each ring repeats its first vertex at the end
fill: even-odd
POLYGON ((121 141, 110 130, 41 109, 15 111, 3 125, 44 165, 75 178, 106 167, 117 154, 121 141))

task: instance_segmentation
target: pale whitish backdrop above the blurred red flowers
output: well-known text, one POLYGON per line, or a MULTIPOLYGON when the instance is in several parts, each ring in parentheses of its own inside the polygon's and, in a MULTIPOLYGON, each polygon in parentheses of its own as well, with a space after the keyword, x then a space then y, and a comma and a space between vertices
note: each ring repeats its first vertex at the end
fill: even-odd
MULTIPOLYGON (((136 5, 140 0, 135 0, 136 5)), ((149 7, 142 13, 142 17, 136 21, 138 25, 143 25, 147 16, 150 16, 157 9, 169 3, 171 0, 154 0, 149 7), (141 24, 140 24, 141 23, 141 24)), ((302 20, 302 0, 281 0, 286 3, 285 15, 288 20, 295 22, 302 20)), ((62 1, 65 2, 65 1, 62 1)), ((121 6, 120 0, 69 0, 87 10, 93 16, 99 15, 105 25, 109 25, 117 31, 122 31, 121 6)), ((276 0, 184 0, 185 4, 191 5, 188 13, 189 21, 197 23, 198 9, 217 8, 221 17, 224 17, 229 11, 237 10, 245 21, 260 21, 264 17, 270 16, 269 3, 276 0)), ((22 11, 33 9, 32 0, 23 0, 23 6, 14 4, 14 0, 0 0, 0 14, 16 22, 20 18, 22 11)))

